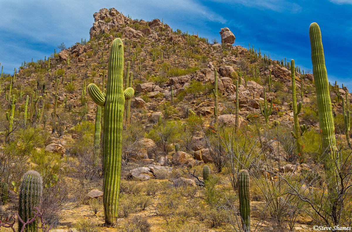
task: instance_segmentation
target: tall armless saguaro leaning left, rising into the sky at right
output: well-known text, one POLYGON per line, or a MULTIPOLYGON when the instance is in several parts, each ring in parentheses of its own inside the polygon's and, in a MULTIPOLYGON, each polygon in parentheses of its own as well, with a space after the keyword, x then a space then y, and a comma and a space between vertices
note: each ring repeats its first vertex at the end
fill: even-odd
POLYGON ((315 22, 309 26, 309 39, 314 85, 316 90, 316 103, 319 112, 322 159, 324 161, 326 172, 333 172, 333 175, 336 175, 336 166, 339 167, 340 162, 337 160, 338 149, 335 140, 334 118, 331 110, 331 99, 329 95, 321 33, 318 24, 315 22), (337 162, 337 165, 335 164, 335 161, 337 162))

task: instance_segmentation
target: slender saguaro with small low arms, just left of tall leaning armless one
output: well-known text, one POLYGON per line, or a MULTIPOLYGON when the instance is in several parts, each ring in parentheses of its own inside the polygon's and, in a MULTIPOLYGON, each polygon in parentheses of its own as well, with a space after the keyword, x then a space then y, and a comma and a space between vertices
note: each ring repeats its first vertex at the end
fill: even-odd
POLYGON ((301 125, 298 122, 298 115, 301 112, 302 109, 302 102, 298 103, 297 107, 297 102, 296 102, 296 80, 295 80, 295 61, 291 59, 291 81, 292 81, 292 109, 293 109, 293 129, 295 132, 291 131, 292 136, 296 139, 296 150, 295 150, 295 156, 299 157, 300 163, 305 162, 305 157, 302 153, 302 137, 307 130, 309 129, 309 126, 306 127, 306 124, 301 125), (302 130, 302 133, 300 132, 300 129, 302 130))

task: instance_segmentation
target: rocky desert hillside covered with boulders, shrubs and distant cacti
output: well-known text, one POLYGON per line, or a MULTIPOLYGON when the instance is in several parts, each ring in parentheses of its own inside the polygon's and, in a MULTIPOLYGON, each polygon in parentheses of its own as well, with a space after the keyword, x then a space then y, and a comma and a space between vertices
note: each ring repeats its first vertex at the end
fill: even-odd
MULTIPOLYGON (((227 27, 219 28, 221 43, 216 43, 217 39, 211 43, 197 33, 170 28, 159 19, 133 20, 114 8, 100 9, 93 17, 89 41, 55 51, 50 59, 25 61, 13 76, 2 75, 0 161, 8 168, 0 170, 0 181, 9 185, 10 202, 3 207, 5 213, 14 212, 11 204, 18 200, 16 189, 21 175, 35 169, 45 174, 44 190, 50 199, 45 198, 43 204, 53 212, 46 220, 57 226, 57 232, 71 228, 87 231, 82 228, 98 224, 96 230, 112 231, 102 226, 101 208, 98 214, 90 212, 94 204, 102 204, 102 165, 100 159, 94 158, 94 151, 100 147, 99 140, 98 146, 93 146, 94 124, 99 123, 95 123, 97 107, 87 86, 95 83, 102 90, 106 88, 111 42, 121 38, 124 78, 128 80, 132 72, 135 94, 130 122, 125 117, 123 122, 119 230, 138 231, 126 228, 132 224, 136 227, 142 219, 150 228, 142 230, 141 226, 140 231, 228 231, 236 227, 227 218, 230 211, 239 215, 237 180, 231 180, 231 172, 237 178, 242 168, 256 173, 251 173, 251 228, 258 225, 260 231, 282 231, 294 228, 296 223, 296 230, 308 231, 313 221, 319 221, 314 218, 318 217, 315 213, 298 207, 302 202, 295 201, 299 210, 293 212, 284 207, 286 203, 282 204, 280 198, 271 196, 286 210, 282 215, 273 212, 266 195, 268 186, 260 184, 266 180, 269 187, 271 183, 282 185, 281 176, 290 175, 301 180, 303 192, 324 189, 316 186, 326 177, 316 159, 321 153, 321 130, 313 74, 309 70, 294 68, 297 104, 302 101, 298 122, 310 126, 302 137, 306 157, 302 162, 290 134, 296 107, 292 103, 289 60, 272 60, 253 45, 233 45, 235 36, 227 27), (13 96, 16 101, 11 101, 13 96), (271 105, 266 122, 261 108, 265 114, 271 105), (240 144, 242 154, 248 155, 247 161, 243 155, 237 161, 231 156, 233 153, 226 147, 233 142, 230 134, 236 137, 234 141, 240 144), (219 155, 215 154, 216 149, 219 155), (10 159, 14 150, 16 157, 22 157, 18 162, 10 159), (255 155, 263 162, 258 161, 257 167, 248 161, 255 155), (233 167, 228 165, 231 159, 237 162, 233 167), (201 178, 205 165, 210 166, 213 175, 209 184, 201 178), (58 189, 63 189, 61 194, 58 189), (138 199, 144 202, 137 202, 138 199), (297 218, 290 218, 289 213, 297 218)), ((352 98, 344 86, 329 85, 329 90, 335 137, 345 149, 349 135, 345 136, 345 104, 341 104, 341 98, 347 99, 346 103, 352 98)), ((0 217, 5 215, 1 210, 0 217)))

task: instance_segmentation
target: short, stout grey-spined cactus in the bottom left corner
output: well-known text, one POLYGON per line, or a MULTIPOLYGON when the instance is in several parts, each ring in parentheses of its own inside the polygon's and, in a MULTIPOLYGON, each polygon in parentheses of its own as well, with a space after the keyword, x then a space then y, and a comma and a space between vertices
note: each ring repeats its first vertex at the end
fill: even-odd
MULTIPOLYGON (((26 172, 21 180, 19 190, 18 215, 24 221, 31 220, 34 217, 35 207, 40 208, 43 195, 43 179, 36 171, 26 172)), ((18 221, 18 231, 20 232, 23 223, 18 221)), ((25 226, 27 232, 37 231, 37 220, 25 226)))

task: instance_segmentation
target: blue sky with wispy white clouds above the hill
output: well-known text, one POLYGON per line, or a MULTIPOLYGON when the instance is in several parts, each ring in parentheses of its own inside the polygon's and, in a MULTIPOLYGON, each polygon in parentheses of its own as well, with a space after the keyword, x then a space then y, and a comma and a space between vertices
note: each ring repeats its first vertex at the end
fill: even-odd
POLYGON ((352 0, 0 0, 0 63, 12 73, 23 60, 44 59, 64 42, 89 39, 93 13, 114 7, 133 19, 164 19, 174 30, 220 41, 220 28, 234 33, 234 45, 254 45, 272 59, 295 59, 312 70, 309 25, 322 33, 329 81, 352 88, 352 0))

